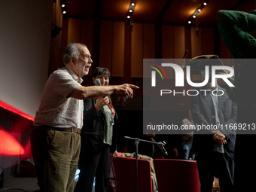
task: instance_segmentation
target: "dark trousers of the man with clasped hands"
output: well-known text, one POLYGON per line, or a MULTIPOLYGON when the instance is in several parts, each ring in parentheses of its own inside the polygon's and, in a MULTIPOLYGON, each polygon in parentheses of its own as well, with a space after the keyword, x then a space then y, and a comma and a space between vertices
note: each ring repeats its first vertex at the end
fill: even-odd
POLYGON ((233 190, 233 158, 225 154, 211 152, 197 155, 197 167, 201 192, 212 192, 214 177, 218 176, 221 192, 233 190), (218 175, 216 175, 218 170, 218 175))

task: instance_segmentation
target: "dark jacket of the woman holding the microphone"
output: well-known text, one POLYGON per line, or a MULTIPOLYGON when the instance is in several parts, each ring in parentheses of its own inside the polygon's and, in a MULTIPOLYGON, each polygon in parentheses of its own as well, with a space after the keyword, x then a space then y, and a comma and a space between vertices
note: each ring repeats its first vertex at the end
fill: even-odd
MULTIPOLYGON (((99 154, 103 146, 105 111, 101 108, 98 112, 94 107, 96 99, 84 100, 84 126, 81 130, 81 155, 89 153, 99 154)), ((117 150, 117 113, 114 115, 111 151, 117 150)))

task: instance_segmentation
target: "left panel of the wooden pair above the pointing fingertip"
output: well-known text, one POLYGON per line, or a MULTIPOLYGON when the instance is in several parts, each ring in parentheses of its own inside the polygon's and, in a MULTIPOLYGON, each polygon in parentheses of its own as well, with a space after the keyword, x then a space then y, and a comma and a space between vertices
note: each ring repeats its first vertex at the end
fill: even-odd
POLYGON ((131 77, 143 77, 143 24, 133 23, 131 77))

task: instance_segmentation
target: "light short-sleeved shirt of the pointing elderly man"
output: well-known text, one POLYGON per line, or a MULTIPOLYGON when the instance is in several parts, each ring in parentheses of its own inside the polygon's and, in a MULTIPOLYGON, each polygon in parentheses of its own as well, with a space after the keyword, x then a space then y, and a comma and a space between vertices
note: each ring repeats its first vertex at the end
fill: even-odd
POLYGON ((81 129, 83 100, 68 96, 73 90, 81 87, 82 81, 68 66, 53 72, 45 84, 34 125, 81 129))

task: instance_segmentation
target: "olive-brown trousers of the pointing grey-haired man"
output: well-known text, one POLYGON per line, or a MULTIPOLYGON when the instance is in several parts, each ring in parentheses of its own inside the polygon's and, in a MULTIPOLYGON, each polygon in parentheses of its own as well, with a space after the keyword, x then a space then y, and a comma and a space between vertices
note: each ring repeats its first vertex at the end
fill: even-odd
POLYGON ((35 128, 30 142, 40 191, 74 191, 81 147, 80 135, 35 128))

